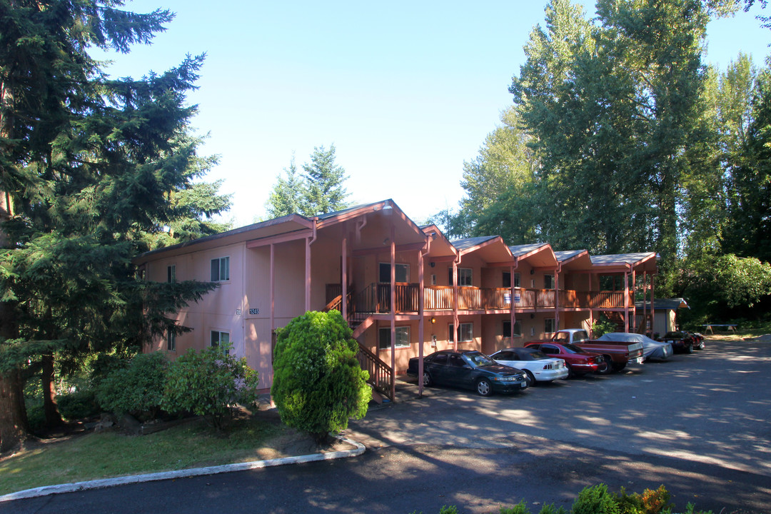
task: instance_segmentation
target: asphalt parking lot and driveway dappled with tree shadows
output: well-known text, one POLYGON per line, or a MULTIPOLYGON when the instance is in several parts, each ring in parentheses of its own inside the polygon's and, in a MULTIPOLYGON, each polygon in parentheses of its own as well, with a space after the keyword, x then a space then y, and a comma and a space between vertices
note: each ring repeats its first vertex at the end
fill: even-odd
POLYGON ((767 514, 771 344, 704 351, 507 396, 401 384, 398 402, 351 422, 352 459, 123 485, 0 505, 0 512, 490 514, 526 500, 569 511, 586 485, 664 484, 677 509, 767 514))

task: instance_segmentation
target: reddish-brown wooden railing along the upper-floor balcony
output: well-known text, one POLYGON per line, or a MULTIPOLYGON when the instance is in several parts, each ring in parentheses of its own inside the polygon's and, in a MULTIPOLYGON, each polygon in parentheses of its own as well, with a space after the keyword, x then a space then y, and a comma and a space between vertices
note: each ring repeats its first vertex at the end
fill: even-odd
MULTIPOLYGON (((332 294, 342 291, 328 284, 328 301, 332 294)), ((426 286, 423 289, 424 308, 427 311, 452 311, 453 287, 426 286)), ((396 284, 396 312, 418 311, 419 284, 396 284)), ((339 294, 339 293, 338 293, 339 294)), ((557 295, 561 308, 621 309, 625 307, 624 291, 572 291, 561 289, 526 289, 515 287, 513 295, 508 287, 458 287, 459 311, 489 311, 515 309, 540 311, 553 309, 557 295)), ((634 305, 629 293, 629 305, 634 305)), ((332 308, 339 309, 339 304, 332 308)), ((363 291, 349 296, 348 315, 354 313, 387 314, 391 311, 391 284, 370 284, 363 291)))

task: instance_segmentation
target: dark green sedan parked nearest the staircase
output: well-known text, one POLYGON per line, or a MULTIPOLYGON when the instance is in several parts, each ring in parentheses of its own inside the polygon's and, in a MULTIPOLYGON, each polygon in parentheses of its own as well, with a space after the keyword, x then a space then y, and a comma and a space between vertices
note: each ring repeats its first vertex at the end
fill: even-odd
MULTIPOLYGON (((418 376, 419 358, 409 359, 407 375, 418 376)), ((482 396, 522 391, 528 387, 524 371, 497 364, 476 350, 440 350, 423 358, 423 385, 472 389, 482 396)))

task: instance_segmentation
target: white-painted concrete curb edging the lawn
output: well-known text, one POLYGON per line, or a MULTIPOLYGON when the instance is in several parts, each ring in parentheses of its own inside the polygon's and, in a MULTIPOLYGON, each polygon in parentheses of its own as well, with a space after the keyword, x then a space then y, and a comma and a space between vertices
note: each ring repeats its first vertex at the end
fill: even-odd
POLYGON ((247 469, 269 468, 274 465, 299 464, 301 462, 315 462, 331 459, 346 459, 348 457, 356 457, 358 455, 362 455, 362 453, 365 452, 366 448, 360 442, 355 442, 348 438, 340 439, 354 445, 356 448, 352 450, 341 450, 339 452, 313 453, 311 455, 298 455, 297 457, 282 457, 281 459, 214 465, 207 468, 179 469, 177 471, 148 473, 146 475, 120 476, 115 479, 89 480, 86 482, 74 482, 71 484, 43 485, 42 487, 35 487, 35 489, 25 489, 24 491, 10 492, 7 495, 0 496, 0 502, 10 502, 16 499, 56 495, 62 494, 63 492, 100 489, 103 487, 113 487, 114 485, 155 482, 157 480, 185 479, 191 476, 216 475, 218 473, 246 471, 247 469))

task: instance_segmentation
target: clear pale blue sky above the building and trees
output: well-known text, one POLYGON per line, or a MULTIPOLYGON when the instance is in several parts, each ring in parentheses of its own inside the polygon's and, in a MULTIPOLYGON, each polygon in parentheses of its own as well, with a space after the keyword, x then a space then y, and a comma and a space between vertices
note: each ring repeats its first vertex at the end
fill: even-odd
MULTIPOLYGON (((593 14, 594 2, 583 3, 593 14)), ((126 8, 177 17, 153 45, 112 56, 109 72, 136 78, 207 53, 189 99, 200 109, 194 126, 210 134, 202 153, 221 158, 207 180, 224 179, 235 226, 265 217, 293 155, 299 168, 314 146, 331 144, 348 200, 392 198, 423 222, 463 197, 463 161, 510 105, 545 5, 136 0, 126 8)), ((745 52, 762 65, 771 31, 759 28, 759 12, 712 22, 709 62, 725 68, 745 52)))

